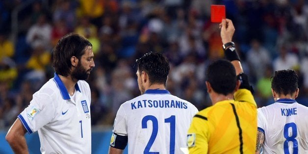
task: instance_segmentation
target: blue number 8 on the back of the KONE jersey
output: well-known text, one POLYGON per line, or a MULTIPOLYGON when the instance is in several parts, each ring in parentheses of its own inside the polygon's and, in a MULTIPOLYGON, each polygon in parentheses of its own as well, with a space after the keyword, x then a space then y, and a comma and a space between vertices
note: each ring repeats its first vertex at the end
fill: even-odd
POLYGON ((283 128, 283 136, 286 139, 283 143, 284 154, 290 154, 289 142, 293 142, 293 154, 298 154, 298 144, 295 137, 297 136, 297 128, 295 123, 287 123, 283 128), (292 135, 289 136, 289 128, 292 130, 292 135))

